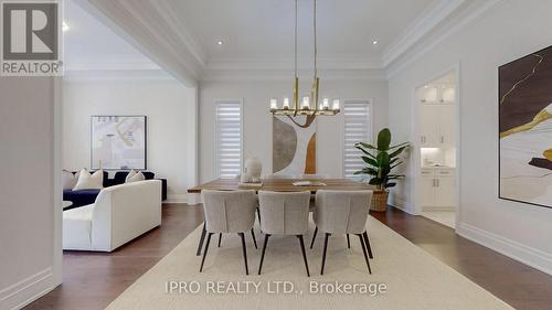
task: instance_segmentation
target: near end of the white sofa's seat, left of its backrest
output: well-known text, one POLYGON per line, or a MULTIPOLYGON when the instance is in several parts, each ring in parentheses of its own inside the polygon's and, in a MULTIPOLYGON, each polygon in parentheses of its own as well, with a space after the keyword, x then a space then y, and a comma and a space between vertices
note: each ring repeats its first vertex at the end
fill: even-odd
POLYGON ((88 249, 92 245, 94 204, 63 212, 63 248, 88 249))

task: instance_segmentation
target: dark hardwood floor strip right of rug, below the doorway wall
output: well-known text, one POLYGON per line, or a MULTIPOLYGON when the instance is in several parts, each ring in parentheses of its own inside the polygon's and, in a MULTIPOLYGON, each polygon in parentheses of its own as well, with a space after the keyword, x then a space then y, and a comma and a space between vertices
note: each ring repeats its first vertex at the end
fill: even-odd
POLYGON ((463 238, 453 228, 426 217, 393 207, 371 214, 513 308, 552 309, 552 276, 463 238))

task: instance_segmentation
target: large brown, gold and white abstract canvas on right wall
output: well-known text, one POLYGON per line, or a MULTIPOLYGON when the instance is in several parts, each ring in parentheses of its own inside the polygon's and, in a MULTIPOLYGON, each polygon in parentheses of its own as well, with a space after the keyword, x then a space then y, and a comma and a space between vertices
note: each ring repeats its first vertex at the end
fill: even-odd
POLYGON ((499 67, 501 199, 552 207, 552 46, 499 67))

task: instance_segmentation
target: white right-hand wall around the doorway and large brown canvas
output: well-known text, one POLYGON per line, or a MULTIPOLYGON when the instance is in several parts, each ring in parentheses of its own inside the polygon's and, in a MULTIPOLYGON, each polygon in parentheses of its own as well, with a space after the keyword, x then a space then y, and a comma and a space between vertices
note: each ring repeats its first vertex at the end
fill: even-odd
MULTIPOLYGON (((552 209, 498 199, 498 66, 552 44, 552 1, 499 1, 469 25, 394 74, 390 126, 412 132, 414 87, 460 64, 460 213, 458 233, 552 274, 552 209)), ((411 177, 414 171, 411 171, 411 177)), ((404 186, 413 210, 412 179, 404 186)))

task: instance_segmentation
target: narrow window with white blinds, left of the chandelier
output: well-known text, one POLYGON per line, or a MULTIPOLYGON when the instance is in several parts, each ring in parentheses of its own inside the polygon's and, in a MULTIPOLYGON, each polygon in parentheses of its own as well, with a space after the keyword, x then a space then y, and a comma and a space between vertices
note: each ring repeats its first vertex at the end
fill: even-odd
POLYGON ((215 105, 215 173, 231 179, 242 171, 242 103, 215 105))

